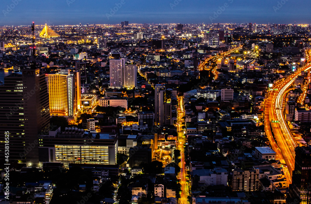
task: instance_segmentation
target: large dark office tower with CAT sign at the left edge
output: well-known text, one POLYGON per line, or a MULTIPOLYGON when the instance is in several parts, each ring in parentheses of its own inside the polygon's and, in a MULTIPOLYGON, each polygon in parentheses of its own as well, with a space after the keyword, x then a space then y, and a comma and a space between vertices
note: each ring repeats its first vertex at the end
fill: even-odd
MULTIPOLYGON (((0 132, 9 132, 10 161, 39 166, 38 135, 50 124, 49 95, 45 75, 39 69, 12 73, 0 86, 0 132)), ((4 158, 4 142, 0 155, 4 158)))

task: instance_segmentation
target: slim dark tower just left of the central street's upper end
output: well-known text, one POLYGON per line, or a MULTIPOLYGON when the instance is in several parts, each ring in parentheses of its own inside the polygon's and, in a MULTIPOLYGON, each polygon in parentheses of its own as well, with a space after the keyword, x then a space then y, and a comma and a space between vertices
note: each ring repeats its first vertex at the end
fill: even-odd
POLYGON ((155 122, 157 125, 172 125, 172 104, 165 86, 155 86, 155 122))

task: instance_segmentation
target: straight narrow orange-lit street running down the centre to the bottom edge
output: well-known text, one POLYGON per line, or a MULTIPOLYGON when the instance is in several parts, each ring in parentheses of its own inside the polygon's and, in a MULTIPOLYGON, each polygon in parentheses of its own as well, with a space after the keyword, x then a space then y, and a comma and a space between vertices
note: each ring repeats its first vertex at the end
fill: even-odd
POLYGON ((180 157, 181 161, 179 163, 180 167, 180 173, 179 173, 179 178, 180 178, 180 184, 181 184, 181 196, 179 203, 181 204, 188 204, 188 199, 187 197, 190 195, 189 194, 189 186, 188 182, 186 181, 186 176, 187 176, 187 171, 185 167, 185 154, 184 154, 184 146, 183 144, 185 143, 185 137, 184 137, 184 130, 183 130, 183 98, 179 97, 179 108, 180 110, 178 111, 178 116, 177 116, 177 121, 178 121, 178 144, 176 145, 176 148, 180 150, 180 157))

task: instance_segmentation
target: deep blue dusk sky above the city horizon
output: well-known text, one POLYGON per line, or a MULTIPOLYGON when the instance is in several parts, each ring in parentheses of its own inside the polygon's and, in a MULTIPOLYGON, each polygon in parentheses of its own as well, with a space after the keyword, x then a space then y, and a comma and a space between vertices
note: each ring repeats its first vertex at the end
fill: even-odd
POLYGON ((0 25, 29 25, 32 21, 49 25, 120 24, 124 20, 294 24, 295 19, 297 24, 310 24, 310 8, 307 0, 2 0, 0 25), (116 12, 111 13, 111 9, 116 12))

